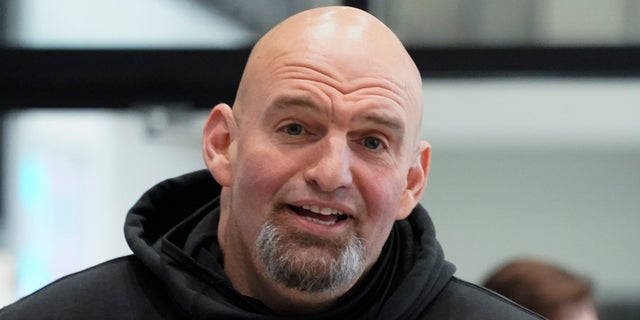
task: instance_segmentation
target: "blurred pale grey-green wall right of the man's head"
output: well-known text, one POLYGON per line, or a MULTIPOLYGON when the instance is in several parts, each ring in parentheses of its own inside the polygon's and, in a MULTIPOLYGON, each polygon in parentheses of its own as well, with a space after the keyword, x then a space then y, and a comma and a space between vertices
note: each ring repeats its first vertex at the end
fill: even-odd
POLYGON ((422 203, 458 275, 519 256, 640 301, 640 80, 426 81, 422 203))

